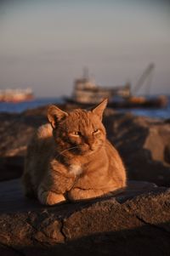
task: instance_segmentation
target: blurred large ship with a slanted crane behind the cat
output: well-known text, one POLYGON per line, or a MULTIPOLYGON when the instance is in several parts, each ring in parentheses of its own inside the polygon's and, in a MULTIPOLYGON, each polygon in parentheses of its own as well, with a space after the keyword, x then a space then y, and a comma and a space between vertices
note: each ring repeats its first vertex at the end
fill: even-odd
MULTIPOLYGON (((150 64, 139 78, 136 86, 133 88, 133 94, 137 93, 146 77, 151 80, 151 72, 154 69, 154 64, 150 64)), ((148 84, 148 92, 150 84, 148 84)), ((88 70, 84 71, 83 77, 75 80, 74 90, 71 98, 65 100, 69 103, 78 105, 93 105, 98 104, 105 98, 109 100, 108 106, 118 108, 134 108, 134 107, 165 107, 167 106, 167 97, 160 95, 158 97, 134 96, 131 92, 131 84, 128 82, 125 85, 116 87, 105 87, 97 85, 94 80, 89 79, 88 70)))

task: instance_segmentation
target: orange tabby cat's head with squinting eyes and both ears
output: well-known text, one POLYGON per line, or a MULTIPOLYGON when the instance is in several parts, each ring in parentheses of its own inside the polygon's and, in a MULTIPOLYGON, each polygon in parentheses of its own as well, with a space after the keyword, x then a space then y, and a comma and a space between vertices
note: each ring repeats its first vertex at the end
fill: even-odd
POLYGON ((66 155, 89 155, 105 146, 105 127, 102 123, 107 100, 92 110, 76 109, 61 111, 57 106, 48 107, 54 140, 59 153, 66 155))

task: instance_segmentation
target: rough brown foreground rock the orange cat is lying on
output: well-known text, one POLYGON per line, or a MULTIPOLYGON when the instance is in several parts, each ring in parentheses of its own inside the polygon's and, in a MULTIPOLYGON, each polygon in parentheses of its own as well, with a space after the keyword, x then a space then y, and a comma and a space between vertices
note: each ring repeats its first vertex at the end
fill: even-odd
POLYGON ((170 190, 130 181, 110 197, 45 207, 0 186, 0 255, 168 255, 170 190))

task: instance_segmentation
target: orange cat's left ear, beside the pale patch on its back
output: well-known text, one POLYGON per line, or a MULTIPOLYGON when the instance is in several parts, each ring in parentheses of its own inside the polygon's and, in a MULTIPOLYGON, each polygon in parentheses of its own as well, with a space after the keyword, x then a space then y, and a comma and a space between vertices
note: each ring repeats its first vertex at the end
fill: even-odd
POLYGON ((56 128, 57 122, 67 117, 68 114, 65 111, 61 111, 56 105, 50 105, 48 107, 48 121, 53 128, 56 128))

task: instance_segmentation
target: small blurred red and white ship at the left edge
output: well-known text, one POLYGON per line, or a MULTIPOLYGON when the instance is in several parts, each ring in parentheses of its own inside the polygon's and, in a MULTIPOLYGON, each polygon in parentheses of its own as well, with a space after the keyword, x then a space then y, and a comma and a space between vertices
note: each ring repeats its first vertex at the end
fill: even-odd
POLYGON ((22 102, 33 100, 34 95, 31 88, 26 89, 0 89, 0 102, 22 102))

